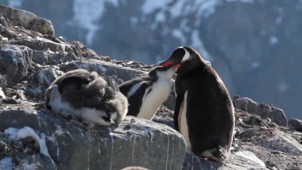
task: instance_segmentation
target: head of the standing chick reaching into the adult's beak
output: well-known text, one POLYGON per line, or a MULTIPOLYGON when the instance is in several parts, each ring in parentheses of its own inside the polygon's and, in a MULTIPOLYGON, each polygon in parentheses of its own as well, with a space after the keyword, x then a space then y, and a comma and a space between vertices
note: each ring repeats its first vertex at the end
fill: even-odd
POLYGON ((180 65, 157 66, 149 73, 150 76, 155 76, 159 79, 170 81, 180 65))

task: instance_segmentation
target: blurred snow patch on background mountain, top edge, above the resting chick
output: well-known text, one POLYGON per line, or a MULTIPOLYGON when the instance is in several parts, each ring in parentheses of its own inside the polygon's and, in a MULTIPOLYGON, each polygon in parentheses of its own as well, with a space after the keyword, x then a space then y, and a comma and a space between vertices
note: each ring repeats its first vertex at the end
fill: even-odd
POLYGON ((68 23, 87 29, 86 43, 92 43, 95 32, 98 31, 98 20, 106 11, 104 3, 109 2, 114 6, 118 5, 118 0, 74 0, 74 16, 68 23))

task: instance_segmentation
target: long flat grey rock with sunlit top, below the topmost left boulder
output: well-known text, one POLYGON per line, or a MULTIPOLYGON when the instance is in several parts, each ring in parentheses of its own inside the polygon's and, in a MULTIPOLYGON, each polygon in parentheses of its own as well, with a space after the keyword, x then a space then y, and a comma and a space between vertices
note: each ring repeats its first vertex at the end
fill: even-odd
POLYGON ((37 37, 32 39, 19 39, 12 41, 11 44, 15 45, 24 45, 26 47, 29 47, 33 50, 42 51, 44 49, 50 49, 52 52, 65 52, 65 45, 61 43, 57 43, 54 41, 51 41, 49 39, 43 38, 43 37, 37 37))

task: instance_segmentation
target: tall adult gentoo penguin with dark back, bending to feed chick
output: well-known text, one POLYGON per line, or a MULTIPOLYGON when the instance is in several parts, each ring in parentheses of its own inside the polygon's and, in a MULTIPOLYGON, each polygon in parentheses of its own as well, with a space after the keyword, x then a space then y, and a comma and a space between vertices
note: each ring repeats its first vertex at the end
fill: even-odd
POLYGON ((224 163, 234 131, 234 108, 215 70, 188 46, 178 47, 160 65, 181 65, 176 74, 174 124, 187 152, 224 163))

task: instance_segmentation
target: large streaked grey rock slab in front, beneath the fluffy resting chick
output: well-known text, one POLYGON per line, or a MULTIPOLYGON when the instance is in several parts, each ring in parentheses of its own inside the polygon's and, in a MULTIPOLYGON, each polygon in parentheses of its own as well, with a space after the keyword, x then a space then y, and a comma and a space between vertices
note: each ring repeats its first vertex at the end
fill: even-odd
POLYGON ((120 170, 142 166, 150 170, 162 167, 179 170, 182 167, 186 145, 182 136, 170 127, 126 116, 119 126, 86 129, 32 105, 22 101, 10 105, 9 110, 3 105, 0 131, 29 126, 45 133, 49 154, 58 169, 120 170))

